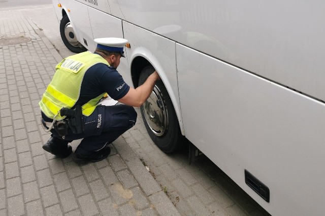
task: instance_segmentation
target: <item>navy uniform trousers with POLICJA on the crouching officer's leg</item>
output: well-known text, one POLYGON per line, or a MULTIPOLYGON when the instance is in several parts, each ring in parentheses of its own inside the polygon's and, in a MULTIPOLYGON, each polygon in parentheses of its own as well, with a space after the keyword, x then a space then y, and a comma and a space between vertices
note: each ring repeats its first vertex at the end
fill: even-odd
MULTIPOLYGON (((76 152, 87 155, 104 148, 112 143, 129 128, 133 127, 137 120, 137 112, 132 106, 124 104, 115 106, 99 105, 89 116, 83 116, 84 132, 73 135, 68 134, 64 140, 83 139, 76 152)), ((62 139, 55 129, 51 130, 52 137, 62 139)))

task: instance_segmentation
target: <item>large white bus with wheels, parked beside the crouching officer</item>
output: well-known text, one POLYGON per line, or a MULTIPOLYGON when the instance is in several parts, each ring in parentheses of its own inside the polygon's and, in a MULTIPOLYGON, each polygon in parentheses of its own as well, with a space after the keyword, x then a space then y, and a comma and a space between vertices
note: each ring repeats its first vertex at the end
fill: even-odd
POLYGON ((191 142, 273 215, 324 214, 324 1, 53 4, 71 51, 123 37, 129 85, 159 72, 141 114, 162 151, 191 142))

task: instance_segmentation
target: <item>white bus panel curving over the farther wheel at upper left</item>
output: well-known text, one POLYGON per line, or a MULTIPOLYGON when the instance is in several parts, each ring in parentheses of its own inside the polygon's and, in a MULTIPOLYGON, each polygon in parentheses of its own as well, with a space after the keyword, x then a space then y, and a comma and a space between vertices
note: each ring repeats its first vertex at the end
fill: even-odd
POLYGON ((62 6, 70 9, 68 13, 70 22, 73 25, 78 41, 89 50, 94 47, 92 31, 88 16, 88 6, 76 1, 65 1, 62 6), (87 45, 84 42, 87 41, 87 45), (89 46, 89 47, 88 47, 89 46))

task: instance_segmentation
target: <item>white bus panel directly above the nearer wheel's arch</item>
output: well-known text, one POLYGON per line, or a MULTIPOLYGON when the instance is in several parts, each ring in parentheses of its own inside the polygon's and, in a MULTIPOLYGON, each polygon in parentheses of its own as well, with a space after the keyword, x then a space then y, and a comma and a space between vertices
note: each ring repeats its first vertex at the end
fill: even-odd
POLYGON ((125 38, 131 44, 131 49, 126 48, 129 67, 138 56, 151 63, 163 80, 180 120, 175 42, 127 22, 123 22, 123 30, 125 38))

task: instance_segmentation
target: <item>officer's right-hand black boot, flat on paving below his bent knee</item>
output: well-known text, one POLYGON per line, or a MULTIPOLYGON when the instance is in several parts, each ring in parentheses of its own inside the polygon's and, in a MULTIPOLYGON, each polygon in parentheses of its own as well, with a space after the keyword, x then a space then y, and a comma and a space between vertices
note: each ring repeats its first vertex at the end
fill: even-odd
POLYGON ((99 151, 91 152, 90 154, 84 155, 75 151, 72 155, 73 161, 76 163, 83 162, 98 162, 104 160, 111 153, 111 148, 107 145, 99 151))

